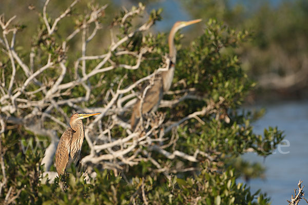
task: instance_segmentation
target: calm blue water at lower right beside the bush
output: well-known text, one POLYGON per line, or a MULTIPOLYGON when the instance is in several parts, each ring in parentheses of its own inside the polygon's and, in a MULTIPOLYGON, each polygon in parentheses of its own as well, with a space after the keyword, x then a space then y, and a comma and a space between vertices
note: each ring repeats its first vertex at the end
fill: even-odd
POLYGON ((252 179, 248 185, 252 193, 258 189, 266 192, 273 205, 287 204, 286 200, 291 199, 299 179, 308 187, 308 101, 285 102, 264 107, 265 116, 254 123, 255 133, 262 134, 264 128, 278 126, 280 130, 284 130, 285 139, 290 141, 290 147, 282 147, 281 150, 289 153, 281 154, 276 150, 276 153, 268 156, 265 161, 256 154, 244 155, 244 159, 258 161, 266 167, 265 180, 252 179))

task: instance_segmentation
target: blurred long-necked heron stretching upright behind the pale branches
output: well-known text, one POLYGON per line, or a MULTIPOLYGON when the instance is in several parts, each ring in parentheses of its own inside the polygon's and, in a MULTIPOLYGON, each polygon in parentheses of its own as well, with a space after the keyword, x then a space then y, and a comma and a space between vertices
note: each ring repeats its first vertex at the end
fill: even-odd
MULTIPOLYGON (((161 74, 155 77, 155 79, 153 80, 153 84, 146 91, 141 108, 142 114, 156 111, 158 109, 160 100, 163 97, 163 92, 166 92, 170 89, 177 61, 177 50, 174 43, 176 32, 185 26, 196 24, 198 22, 201 22, 201 19, 190 20, 188 22, 176 22, 172 27, 168 37, 169 58, 171 60, 170 66, 167 71, 163 71, 161 72, 161 74)), ((132 114, 130 118, 130 125, 132 130, 136 128, 140 119, 140 106, 140 100, 138 99, 137 103, 132 109, 132 114)))

